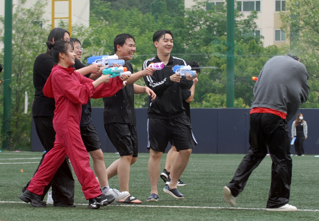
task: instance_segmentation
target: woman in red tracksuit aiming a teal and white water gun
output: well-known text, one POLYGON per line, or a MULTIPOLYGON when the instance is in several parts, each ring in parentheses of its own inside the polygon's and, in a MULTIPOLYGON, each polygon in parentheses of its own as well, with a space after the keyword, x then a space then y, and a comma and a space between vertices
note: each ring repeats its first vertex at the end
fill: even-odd
POLYGON ((52 58, 57 65, 53 67, 43 93, 56 102, 53 118, 56 140, 20 199, 35 207, 46 207, 46 202, 40 199, 44 187, 68 155, 85 198, 89 200, 89 208, 99 209, 100 206, 112 203, 114 196, 102 195, 100 185, 91 170, 89 155, 80 134, 81 105, 86 104, 90 98, 113 96, 122 89, 123 80, 127 77, 124 75, 122 78, 110 79, 109 75, 102 75, 93 81, 70 67, 75 59, 70 42, 56 41, 47 44, 49 49, 52 48, 52 58))

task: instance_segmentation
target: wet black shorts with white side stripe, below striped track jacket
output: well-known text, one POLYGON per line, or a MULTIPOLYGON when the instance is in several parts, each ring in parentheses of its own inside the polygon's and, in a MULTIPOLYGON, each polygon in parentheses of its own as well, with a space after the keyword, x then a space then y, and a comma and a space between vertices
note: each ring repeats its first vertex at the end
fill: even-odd
POLYGON ((166 120, 159 118, 147 119, 147 149, 165 152, 170 139, 177 151, 187 150, 195 147, 195 137, 192 126, 186 115, 166 120))

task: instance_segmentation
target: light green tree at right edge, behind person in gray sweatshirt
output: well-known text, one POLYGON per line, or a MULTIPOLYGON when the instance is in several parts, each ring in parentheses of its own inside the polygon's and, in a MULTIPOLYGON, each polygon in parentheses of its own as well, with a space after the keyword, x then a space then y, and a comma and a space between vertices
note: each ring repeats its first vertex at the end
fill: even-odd
POLYGON ((319 107, 319 1, 286 1, 286 12, 280 14, 283 28, 287 30, 291 48, 306 66, 309 74, 310 95, 302 108, 319 107))

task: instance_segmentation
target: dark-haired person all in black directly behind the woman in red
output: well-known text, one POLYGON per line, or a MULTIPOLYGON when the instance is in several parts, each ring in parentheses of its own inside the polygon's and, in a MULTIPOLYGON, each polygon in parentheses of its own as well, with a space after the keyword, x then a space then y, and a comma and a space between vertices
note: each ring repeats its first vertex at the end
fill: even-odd
MULTIPOLYGON (((54 28, 51 30, 47 41, 47 51, 46 53, 40 54, 34 61, 33 65, 33 85, 35 88, 34 101, 32 106, 32 115, 35 125, 36 132, 39 136, 41 144, 46 150, 47 154, 52 148, 55 141, 56 132, 53 129, 53 116, 55 109, 55 101, 53 98, 48 98, 44 96, 42 89, 46 83, 48 77, 50 76, 51 70, 54 65, 57 64, 56 61, 52 59, 52 44, 55 41, 70 41, 70 33, 63 28, 54 28)), ((35 173, 38 171, 41 163, 44 159, 45 154, 43 154, 42 159, 35 173)), ((22 189, 22 192, 26 191, 29 186, 30 181, 22 189)), ((52 178, 51 182, 44 188, 43 195, 41 195, 41 200, 44 199, 48 190, 52 186, 52 194, 54 200, 54 206, 58 207, 75 207, 74 202, 74 179, 72 176, 72 171, 69 163, 69 158, 66 157, 56 171, 56 175, 52 178)))

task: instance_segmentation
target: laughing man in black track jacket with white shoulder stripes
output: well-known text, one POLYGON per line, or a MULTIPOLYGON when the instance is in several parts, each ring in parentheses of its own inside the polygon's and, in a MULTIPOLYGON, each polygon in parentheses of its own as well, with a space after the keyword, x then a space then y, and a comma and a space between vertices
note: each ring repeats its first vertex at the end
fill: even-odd
POLYGON ((179 154, 171 168, 170 183, 163 191, 176 199, 184 199, 177 187, 177 181, 186 168, 192 148, 195 146, 194 137, 188 116, 182 104, 180 89, 190 89, 193 79, 189 73, 186 77, 174 73, 175 65, 186 65, 186 62, 170 55, 173 49, 173 33, 169 30, 159 30, 153 35, 154 46, 157 55, 146 60, 143 69, 150 63, 164 62, 162 70, 156 70, 152 76, 144 77, 146 85, 157 95, 153 101, 149 100, 148 107, 148 146, 150 159, 148 162, 148 173, 151 182, 151 195, 147 201, 158 201, 157 183, 160 173, 160 159, 165 152, 168 141, 173 140, 179 154), (160 136, 159 136, 160 135, 160 136))

